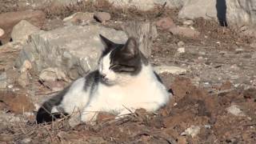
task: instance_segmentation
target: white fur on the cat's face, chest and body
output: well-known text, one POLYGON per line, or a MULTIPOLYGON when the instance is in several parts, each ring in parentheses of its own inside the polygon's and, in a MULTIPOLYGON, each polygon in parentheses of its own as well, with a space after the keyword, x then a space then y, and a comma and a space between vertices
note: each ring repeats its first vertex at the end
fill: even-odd
POLYGON ((85 79, 79 78, 72 84, 60 106, 67 113, 77 109, 82 114, 81 120, 89 122, 95 118, 95 111, 115 111, 119 115, 130 114, 130 110, 138 108, 154 111, 169 101, 170 94, 158 82, 150 65, 142 66, 141 72, 136 76, 117 74, 109 70, 109 67, 110 54, 107 54, 99 64, 99 71, 106 74, 108 82, 116 85, 106 86, 99 83, 98 90, 90 97, 89 92, 83 90, 85 79))

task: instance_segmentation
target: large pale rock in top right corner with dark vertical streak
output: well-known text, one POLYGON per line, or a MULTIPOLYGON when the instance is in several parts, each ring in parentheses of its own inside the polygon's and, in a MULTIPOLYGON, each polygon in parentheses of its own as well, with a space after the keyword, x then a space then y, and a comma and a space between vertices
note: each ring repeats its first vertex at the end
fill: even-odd
POLYGON ((234 26, 256 24, 255 0, 187 0, 179 18, 225 19, 234 26))

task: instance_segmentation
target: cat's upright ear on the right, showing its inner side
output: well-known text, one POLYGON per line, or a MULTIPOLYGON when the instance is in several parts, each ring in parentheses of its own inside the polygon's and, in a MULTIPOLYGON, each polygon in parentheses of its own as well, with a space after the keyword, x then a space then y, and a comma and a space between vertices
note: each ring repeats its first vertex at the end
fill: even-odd
POLYGON ((128 38, 125 46, 122 48, 123 51, 125 51, 125 54, 128 54, 130 56, 134 56, 138 54, 138 43, 136 42, 136 39, 133 37, 128 38))

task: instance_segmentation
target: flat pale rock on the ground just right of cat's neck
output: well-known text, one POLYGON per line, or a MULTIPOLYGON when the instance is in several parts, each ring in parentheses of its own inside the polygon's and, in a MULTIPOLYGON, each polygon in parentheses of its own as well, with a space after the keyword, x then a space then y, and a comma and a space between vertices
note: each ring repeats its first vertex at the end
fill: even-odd
POLYGON ((170 74, 186 74, 186 69, 182 69, 177 66, 154 66, 154 70, 158 73, 170 73, 170 74))

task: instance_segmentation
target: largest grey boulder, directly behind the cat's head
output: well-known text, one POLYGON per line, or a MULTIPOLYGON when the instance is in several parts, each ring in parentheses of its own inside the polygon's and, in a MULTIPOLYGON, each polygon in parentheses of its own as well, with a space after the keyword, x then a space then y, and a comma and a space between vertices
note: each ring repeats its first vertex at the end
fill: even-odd
POLYGON ((102 26, 66 26, 52 31, 39 31, 30 35, 17 60, 17 66, 27 59, 32 70, 40 72, 48 67, 57 67, 71 78, 77 78, 98 64, 103 44, 102 34, 113 42, 124 43, 123 31, 102 26))

